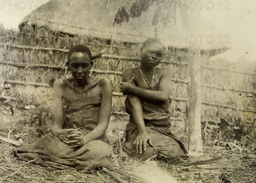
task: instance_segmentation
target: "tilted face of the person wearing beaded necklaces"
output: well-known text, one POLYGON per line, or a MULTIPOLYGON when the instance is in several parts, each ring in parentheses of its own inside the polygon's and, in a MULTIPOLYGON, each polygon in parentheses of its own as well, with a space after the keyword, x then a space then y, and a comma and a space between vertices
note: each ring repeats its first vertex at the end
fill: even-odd
POLYGON ((141 61, 147 67, 157 66, 163 56, 163 45, 152 43, 141 49, 141 61))

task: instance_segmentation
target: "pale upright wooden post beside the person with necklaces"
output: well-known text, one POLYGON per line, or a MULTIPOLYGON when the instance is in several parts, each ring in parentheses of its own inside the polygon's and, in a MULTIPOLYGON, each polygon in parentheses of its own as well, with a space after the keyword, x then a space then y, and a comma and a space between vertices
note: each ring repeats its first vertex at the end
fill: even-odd
POLYGON ((186 148, 189 151, 203 152, 201 137, 201 74, 200 74, 200 46, 192 45, 189 48, 188 62, 188 105, 186 114, 186 131, 188 141, 186 148))

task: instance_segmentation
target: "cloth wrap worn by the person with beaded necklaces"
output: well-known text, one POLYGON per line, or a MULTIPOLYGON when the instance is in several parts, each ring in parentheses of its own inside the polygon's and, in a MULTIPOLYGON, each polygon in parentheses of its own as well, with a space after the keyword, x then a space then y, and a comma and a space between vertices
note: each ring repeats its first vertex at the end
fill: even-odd
POLYGON ((129 123, 126 126, 124 134, 125 145, 123 151, 132 157, 147 160, 154 155, 157 155, 157 160, 162 160, 167 163, 181 163, 183 158, 187 158, 188 152, 184 145, 172 134, 170 128, 170 113, 169 105, 171 99, 164 104, 153 104, 149 101, 143 100, 143 118, 148 135, 151 137, 153 147, 147 144, 146 151, 141 154, 136 153, 134 148, 134 141, 137 137, 138 131, 131 115, 131 103, 128 98, 125 99, 126 112, 130 114, 129 123), (128 109, 128 110, 127 110, 128 109))

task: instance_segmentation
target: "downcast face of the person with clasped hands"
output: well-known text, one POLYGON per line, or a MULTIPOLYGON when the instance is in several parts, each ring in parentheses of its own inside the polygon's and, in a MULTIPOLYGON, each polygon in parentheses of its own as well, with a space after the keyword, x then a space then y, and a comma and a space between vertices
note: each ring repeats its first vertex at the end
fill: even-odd
POLYGON ((73 78, 78 82, 86 80, 89 70, 92 68, 90 57, 88 56, 88 53, 84 52, 72 53, 68 65, 73 78))

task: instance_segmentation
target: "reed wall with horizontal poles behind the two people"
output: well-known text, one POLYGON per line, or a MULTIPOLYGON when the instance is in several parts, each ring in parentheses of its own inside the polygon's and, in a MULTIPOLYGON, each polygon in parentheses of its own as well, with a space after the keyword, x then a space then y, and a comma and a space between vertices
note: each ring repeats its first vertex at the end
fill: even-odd
MULTIPOLYGON (((14 31, 1 33, 1 79, 6 84, 30 84, 49 87, 49 81, 70 77, 65 66, 69 48, 85 44, 93 52, 104 48, 106 54, 96 59, 93 75, 108 77, 113 84, 113 114, 125 115, 125 96, 119 92, 122 70, 137 67, 140 62, 140 45, 88 40, 86 37, 60 37, 59 35, 26 34, 14 31), (39 77, 40 76, 40 77, 39 77), (118 107, 117 107, 118 106, 118 107)), ((186 51, 165 51, 159 67, 172 71, 172 119, 185 121, 187 109, 187 63, 186 51)), ((255 68, 237 70, 235 63, 223 65, 212 63, 209 56, 201 55, 202 115, 214 117, 234 117, 237 115, 249 121, 256 113, 256 74, 255 68), (207 73, 208 72, 208 73, 207 73), (213 73, 213 74, 212 74, 213 73)), ((198 71, 198 74, 200 73, 198 71)), ((201 74, 201 73, 200 73, 201 74)), ((23 86, 25 87, 25 86, 23 86)), ((49 88, 48 88, 49 89, 49 88)), ((50 91, 50 89, 49 89, 50 91)), ((3 93, 1 95, 3 96, 3 93)), ((10 97, 10 96, 9 96, 10 97)))

